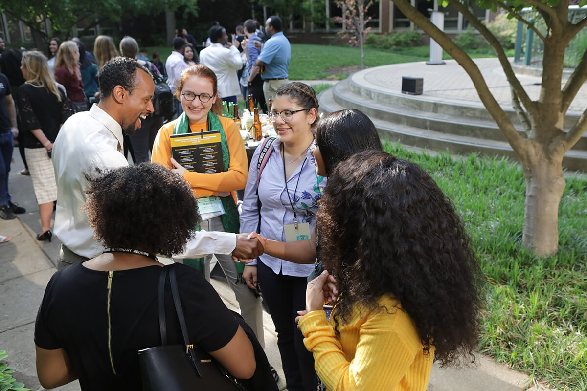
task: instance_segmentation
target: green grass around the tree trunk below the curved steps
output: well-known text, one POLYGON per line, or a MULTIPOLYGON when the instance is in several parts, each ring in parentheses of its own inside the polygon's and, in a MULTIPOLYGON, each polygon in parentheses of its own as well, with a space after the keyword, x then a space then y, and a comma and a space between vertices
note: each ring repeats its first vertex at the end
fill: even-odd
POLYGON ((525 181, 516 164, 384 148, 426 169, 463 217, 488 281, 480 351, 558 389, 587 389, 587 181, 566 180, 559 253, 537 259, 521 247, 525 181))

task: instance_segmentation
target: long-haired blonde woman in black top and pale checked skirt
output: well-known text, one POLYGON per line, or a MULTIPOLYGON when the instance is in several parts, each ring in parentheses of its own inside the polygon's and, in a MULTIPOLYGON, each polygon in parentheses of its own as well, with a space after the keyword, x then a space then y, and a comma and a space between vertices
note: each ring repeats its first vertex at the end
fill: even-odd
POLYGON ((55 171, 50 158, 53 141, 69 116, 68 101, 49 73, 47 58, 41 52, 22 56, 22 75, 26 82, 18 87, 18 111, 35 196, 41 214, 41 233, 37 240, 49 240, 53 201, 57 199, 55 171))

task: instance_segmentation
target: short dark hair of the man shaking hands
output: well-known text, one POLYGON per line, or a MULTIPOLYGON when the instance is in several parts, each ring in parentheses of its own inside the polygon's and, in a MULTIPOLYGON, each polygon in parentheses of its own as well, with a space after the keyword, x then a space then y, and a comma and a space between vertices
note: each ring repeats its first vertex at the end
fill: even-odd
POLYGON ((133 90, 139 85, 137 69, 144 70, 153 78, 153 74, 134 59, 114 57, 108 60, 98 73, 100 97, 109 97, 116 86, 123 86, 125 90, 129 91, 129 94, 132 94, 133 90))

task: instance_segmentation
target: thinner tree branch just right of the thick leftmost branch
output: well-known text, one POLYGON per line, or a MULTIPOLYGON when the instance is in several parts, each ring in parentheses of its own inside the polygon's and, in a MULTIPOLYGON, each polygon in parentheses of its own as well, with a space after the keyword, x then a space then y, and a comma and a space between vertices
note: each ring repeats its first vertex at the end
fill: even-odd
POLYGON ((510 85, 516 91, 516 94, 521 100, 522 104, 528 111, 528 114, 534 119, 534 123, 538 122, 538 110, 535 103, 530 99, 524 87, 519 82, 518 78, 515 76, 514 70, 510 64, 510 60, 508 60, 507 55, 505 55, 504 48, 501 46, 501 43, 495 38, 495 36, 487 29, 487 27, 477 19, 477 16, 473 15, 471 11, 465 7, 461 2, 458 0, 448 0, 448 4, 452 5, 458 12, 462 13, 463 16, 471 23, 478 32, 483 35, 485 40, 489 43, 489 45, 495 50, 495 54, 497 54, 498 60, 500 60, 501 67, 504 70, 505 77, 507 77, 510 85))

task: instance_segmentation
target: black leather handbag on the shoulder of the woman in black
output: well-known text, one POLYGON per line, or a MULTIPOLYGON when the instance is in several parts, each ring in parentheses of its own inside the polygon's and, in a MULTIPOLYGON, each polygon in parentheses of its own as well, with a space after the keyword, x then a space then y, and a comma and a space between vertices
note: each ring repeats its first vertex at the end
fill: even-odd
POLYGON ((158 288, 159 329, 161 346, 139 351, 141 379, 144 391, 215 390, 247 391, 230 376, 208 352, 190 344, 177 288, 174 265, 161 268, 158 288), (165 281, 170 277, 173 303, 176 307, 185 345, 168 345, 165 320, 165 281))

